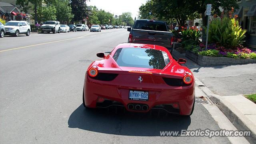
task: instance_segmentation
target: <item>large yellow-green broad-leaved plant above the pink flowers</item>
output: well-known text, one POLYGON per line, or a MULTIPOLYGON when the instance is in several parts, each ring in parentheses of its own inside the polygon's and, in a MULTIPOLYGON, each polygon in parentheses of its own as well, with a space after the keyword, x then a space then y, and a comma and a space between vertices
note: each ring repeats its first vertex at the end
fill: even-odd
POLYGON ((208 42, 235 47, 244 42, 245 33, 234 18, 214 19, 209 25, 208 42))

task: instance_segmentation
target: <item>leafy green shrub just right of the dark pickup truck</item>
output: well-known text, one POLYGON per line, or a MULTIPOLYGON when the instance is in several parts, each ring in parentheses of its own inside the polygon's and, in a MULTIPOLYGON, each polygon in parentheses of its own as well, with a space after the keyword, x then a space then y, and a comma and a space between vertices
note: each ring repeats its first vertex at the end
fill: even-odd
POLYGON ((199 30, 193 30, 193 29, 184 29, 181 31, 182 34, 182 40, 196 40, 199 41, 199 38, 201 36, 199 30))

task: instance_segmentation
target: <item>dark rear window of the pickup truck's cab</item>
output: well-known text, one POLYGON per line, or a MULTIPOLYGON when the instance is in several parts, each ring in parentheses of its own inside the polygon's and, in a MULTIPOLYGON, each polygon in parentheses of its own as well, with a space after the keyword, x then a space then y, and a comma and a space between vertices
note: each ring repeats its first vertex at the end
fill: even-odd
POLYGON ((167 32, 166 24, 164 22, 150 22, 150 21, 137 21, 134 29, 139 30, 156 30, 167 32))

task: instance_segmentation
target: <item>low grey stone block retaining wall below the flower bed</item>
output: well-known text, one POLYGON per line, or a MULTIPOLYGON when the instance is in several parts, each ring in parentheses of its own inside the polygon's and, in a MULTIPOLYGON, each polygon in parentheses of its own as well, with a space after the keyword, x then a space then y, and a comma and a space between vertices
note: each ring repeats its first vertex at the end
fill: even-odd
POLYGON ((193 60, 194 62, 196 62, 200 66, 256 63, 256 59, 202 56, 202 55, 199 55, 199 54, 195 54, 191 51, 186 51, 186 57, 193 60))

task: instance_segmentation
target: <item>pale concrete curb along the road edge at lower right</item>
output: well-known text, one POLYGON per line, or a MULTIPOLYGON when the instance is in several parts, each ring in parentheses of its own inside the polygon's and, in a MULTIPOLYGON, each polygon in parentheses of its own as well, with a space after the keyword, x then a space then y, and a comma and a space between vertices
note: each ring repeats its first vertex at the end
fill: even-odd
MULTIPOLYGON (((198 81, 198 80, 197 80, 198 81)), ((196 82, 197 83, 197 82, 196 82)), ((201 82, 200 82, 201 83, 201 82)), ((197 85, 199 85, 198 83, 197 85)), ((218 108, 225 114, 230 122, 240 131, 250 130, 251 136, 245 136, 246 140, 251 144, 256 142, 256 125, 253 124, 242 112, 230 104, 222 96, 214 94, 206 86, 200 87, 200 89, 212 100, 212 102, 218 106, 218 108)))

